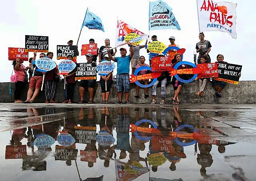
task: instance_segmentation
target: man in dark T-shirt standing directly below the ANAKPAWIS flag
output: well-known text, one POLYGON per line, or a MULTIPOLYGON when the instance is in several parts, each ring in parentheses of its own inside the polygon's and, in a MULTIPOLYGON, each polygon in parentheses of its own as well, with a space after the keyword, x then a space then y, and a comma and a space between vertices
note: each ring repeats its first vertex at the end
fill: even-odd
POLYGON ((204 40, 204 33, 201 32, 199 33, 199 39, 200 41, 196 43, 196 53, 199 52, 198 58, 197 58, 197 63, 200 64, 200 59, 202 55, 207 55, 207 61, 206 63, 211 63, 211 58, 208 53, 211 51, 211 43, 208 40, 204 40))

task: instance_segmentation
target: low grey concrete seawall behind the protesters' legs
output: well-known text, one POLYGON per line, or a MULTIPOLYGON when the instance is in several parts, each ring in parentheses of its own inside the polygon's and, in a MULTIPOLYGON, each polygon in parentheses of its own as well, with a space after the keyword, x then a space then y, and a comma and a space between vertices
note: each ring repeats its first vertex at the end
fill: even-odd
MULTIPOLYGON (((74 90, 74 101, 79 102, 79 88, 78 82, 76 83, 76 87, 74 90)), ((14 102, 14 90, 15 84, 12 84, 12 92, 13 95, 10 96, 9 94, 9 86, 10 83, 0 83, 0 102, 14 102)), ((256 81, 240 81, 238 85, 226 84, 226 87, 222 91, 222 98, 218 98, 217 102, 213 100, 214 88, 210 82, 207 83, 204 96, 197 96, 195 92, 198 89, 198 82, 192 82, 188 84, 184 84, 182 91, 180 92, 180 104, 182 103, 200 103, 200 104, 255 104, 256 103, 256 81)), ((26 100, 28 91, 28 83, 26 84, 25 88, 22 91, 22 100, 26 100)), ((157 88, 157 102, 158 104, 161 100, 160 97, 161 87, 157 88)), ((101 103, 102 96, 101 96, 101 88, 100 83, 97 82, 96 85, 96 94, 94 95, 94 102, 101 103)), ((144 98, 144 90, 140 89, 140 98, 135 98, 134 95, 136 94, 135 84, 131 84, 130 89, 130 97, 129 100, 131 103, 140 103, 140 104, 150 104, 150 100, 152 99, 151 96, 151 89, 148 89, 148 94, 150 95, 148 98, 144 98)), ((174 91, 172 85, 168 83, 166 86, 166 104, 170 104, 172 97, 174 96, 174 91)), ((85 100, 88 100, 88 91, 85 92, 85 100)), ((64 96, 64 83, 60 82, 57 83, 56 92, 55 92, 55 101, 63 102, 65 99, 64 96)), ((117 91, 116 91, 116 83, 114 82, 111 89, 110 89, 110 96, 109 102, 114 103, 117 100, 117 91)), ((41 91, 38 97, 36 98, 36 102, 44 102, 44 91, 41 91)))

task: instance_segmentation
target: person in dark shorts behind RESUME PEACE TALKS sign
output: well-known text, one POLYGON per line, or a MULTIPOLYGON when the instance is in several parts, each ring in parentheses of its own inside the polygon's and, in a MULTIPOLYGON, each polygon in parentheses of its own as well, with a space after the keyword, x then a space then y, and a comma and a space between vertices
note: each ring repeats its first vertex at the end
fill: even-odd
MULTIPOLYGON (((92 57, 93 57, 93 55, 91 53, 86 54, 87 63, 91 63, 92 67, 96 67, 96 62, 92 61, 92 57)), ((79 104, 86 103, 84 101, 84 89, 86 89, 86 87, 88 87, 88 92, 89 92, 89 96, 90 96, 88 103, 89 104, 93 103, 95 85, 96 85, 96 80, 80 81, 80 83, 79 83, 80 102, 78 102, 79 104)))

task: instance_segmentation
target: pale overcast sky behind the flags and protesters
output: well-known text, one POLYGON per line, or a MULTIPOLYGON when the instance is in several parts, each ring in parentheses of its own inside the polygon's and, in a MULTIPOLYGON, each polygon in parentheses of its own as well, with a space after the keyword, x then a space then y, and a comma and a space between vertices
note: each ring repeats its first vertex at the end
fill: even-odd
MULTIPOLYGON (((173 8, 181 30, 153 30, 148 31, 148 0, 12 0, 2 3, 0 11, 0 59, 2 60, 1 82, 9 82, 12 73, 12 61, 8 61, 8 47, 24 47, 25 35, 49 36, 49 51, 54 52, 56 60, 56 45, 66 45, 72 39, 74 44, 78 39, 80 27, 84 20, 86 8, 102 19, 105 32, 88 30, 84 27, 78 42, 79 49, 82 44, 87 44, 90 38, 95 39, 98 47, 104 45, 104 39, 110 39, 114 46, 116 37, 117 17, 130 26, 152 35, 157 35, 158 40, 166 46, 170 44, 168 38, 176 37, 176 43, 185 48, 184 61, 193 62, 198 39, 198 17, 196 0, 164 0, 173 8)), ((220 31, 205 31, 205 39, 212 44, 209 55, 212 61, 221 53, 228 63, 242 65, 240 80, 255 80, 255 5, 253 0, 227 0, 237 3, 236 33, 237 39, 232 39, 228 33, 220 31)), ((216 1, 217 2, 217 1, 216 1)), ((142 42, 142 44, 144 41, 142 42)), ((126 45, 127 46, 127 45, 126 45)), ((128 46, 127 46, 128 47, 128 46)), ((140 51, 146 57, 146 50, 140 51)), ((118 51, 117 56, 120 56, 118 51)), ((32 57, 32 53, 29 53, 32 57)), ((78 63, 85 62, 85 56, 78 57, 78 63)), ((59 61, 56 60, 58 64, 59 61)), ((148 63, 148 60, 146 61, 148 63)), ((28 65, 25 62, 24 65, 28 65)))

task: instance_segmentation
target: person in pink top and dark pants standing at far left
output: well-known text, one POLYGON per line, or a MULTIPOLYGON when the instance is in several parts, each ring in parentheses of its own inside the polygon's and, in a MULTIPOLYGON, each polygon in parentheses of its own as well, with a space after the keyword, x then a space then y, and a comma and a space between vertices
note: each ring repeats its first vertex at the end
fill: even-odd
POLYGON ((12 62, 14 72, 17 76, 17 82, 15 83, 15 91, 14 91, 15 103, 23 102, 22 100, 20 100, 21 91, 25 87, 25 79, 27 78, 28 80, 27 68, 22 63, 23 63, 23 60, 21 60, 20 58, 17 58, 16 61, 12 62))

